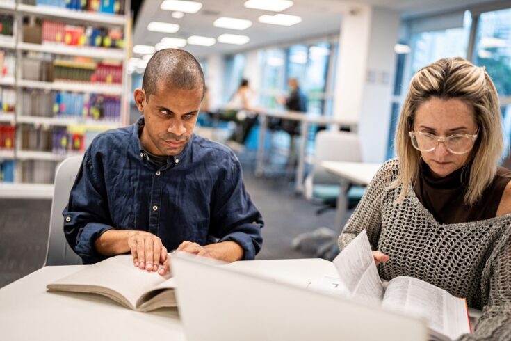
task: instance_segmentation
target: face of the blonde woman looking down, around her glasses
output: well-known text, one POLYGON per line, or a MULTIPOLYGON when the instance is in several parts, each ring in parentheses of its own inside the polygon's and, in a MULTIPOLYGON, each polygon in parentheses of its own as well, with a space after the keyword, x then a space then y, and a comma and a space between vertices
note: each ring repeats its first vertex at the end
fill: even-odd
MULTIPOLYGON (((415 113, 414 132, 447 137, 454 134, 476 134, 477 130, 473 108, 456 98, 442 100, 432 97, 419 105, 415 113)), ((421 154, 434 175, 445 177, 467 164, 471 151, 453 154, 444 143, 438 143, 435 150, 421 154)))

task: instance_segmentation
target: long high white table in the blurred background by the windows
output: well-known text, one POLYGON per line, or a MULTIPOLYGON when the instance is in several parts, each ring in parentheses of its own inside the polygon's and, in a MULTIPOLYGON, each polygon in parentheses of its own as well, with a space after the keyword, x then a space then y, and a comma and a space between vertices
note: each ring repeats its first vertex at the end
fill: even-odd
POLYGON ((299 111, 276 111, 276 110, 263 110, 257 111, 260 119, 259 129, 259 142, 257 145, 257 163, 256 175, 263 175, 264 173, 264 142, 266 139, 266 127, 268 127, 267 117, 284 118, 286 120, 295 120, 301 122, 300 125, 300 154, 298 155, 298 169, 296 170, 295 191, 302 193, 303 180, 305 173, 305 150, 307 148, 307 132, 309 132, 309 125, 315 124, 319 126, 326 125, 344 125, 349 126, 352 132, 356 131, 358 122, 355 120, 344 120, 333 117, 318 116, 311 113, 302 113, 299 111))

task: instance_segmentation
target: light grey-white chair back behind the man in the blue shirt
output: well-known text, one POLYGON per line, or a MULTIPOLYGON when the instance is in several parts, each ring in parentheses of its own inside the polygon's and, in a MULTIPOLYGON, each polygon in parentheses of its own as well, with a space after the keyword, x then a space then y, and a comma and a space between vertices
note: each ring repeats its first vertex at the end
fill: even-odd
POLYGON ((83 157, 81 156, 69 157, 57 167, 54 198, 51 201, 48 247, 44 266, 82 264, 79 255, 76 255, 69 244, 67 244, 64 235, 64 217, 62 215, 69 201, 71 188, 80 169, 82 159, 83 157))

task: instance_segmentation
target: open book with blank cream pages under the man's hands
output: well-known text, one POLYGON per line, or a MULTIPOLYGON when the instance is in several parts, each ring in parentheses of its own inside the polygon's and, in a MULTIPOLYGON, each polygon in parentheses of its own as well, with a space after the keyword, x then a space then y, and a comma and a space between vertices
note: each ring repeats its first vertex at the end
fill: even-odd
POLYGON ((174 278, 138 269, 131 255, 117 255, 89 265, 46 287, 48 291, 102 294, 143 312, 177 306, 174 278))

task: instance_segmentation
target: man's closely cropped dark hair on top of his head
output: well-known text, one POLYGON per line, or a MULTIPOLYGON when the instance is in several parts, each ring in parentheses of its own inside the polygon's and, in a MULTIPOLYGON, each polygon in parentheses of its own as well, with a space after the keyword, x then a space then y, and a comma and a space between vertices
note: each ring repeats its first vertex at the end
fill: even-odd
POLYGON ((161 82, 165 86, 178 89, 200 88, 204 97, 202 68, 194 56, 182 49, 162 49, 149 59, 142 79, 146 102, 150 95, 156 93, 156 87, 161 82))

